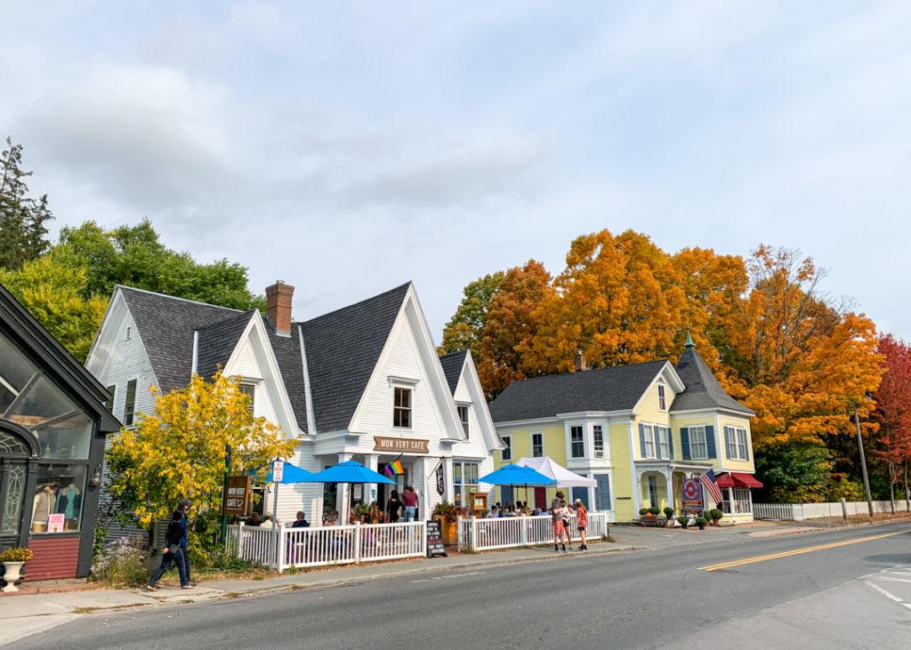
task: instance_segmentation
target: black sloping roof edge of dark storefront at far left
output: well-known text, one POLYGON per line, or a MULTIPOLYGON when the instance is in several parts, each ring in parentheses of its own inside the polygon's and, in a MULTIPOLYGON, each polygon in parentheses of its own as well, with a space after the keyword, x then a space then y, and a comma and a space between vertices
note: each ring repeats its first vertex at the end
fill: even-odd
POLYGON ((104 406, 110 393, 3 285, 0 285, 0 324, 13 335, 14 342, 25 346, 96 416, 99 431, 120 429, 120 422, 104 406))

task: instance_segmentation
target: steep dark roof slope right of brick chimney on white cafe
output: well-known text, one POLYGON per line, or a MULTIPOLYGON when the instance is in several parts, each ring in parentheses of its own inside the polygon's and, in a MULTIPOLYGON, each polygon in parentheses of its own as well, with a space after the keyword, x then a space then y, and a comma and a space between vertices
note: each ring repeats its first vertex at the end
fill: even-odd
POLYGON ((373 298, 297 323, 307 355, 317 431, 348 427, 410 287, 411 282, 406 282, 373 298))

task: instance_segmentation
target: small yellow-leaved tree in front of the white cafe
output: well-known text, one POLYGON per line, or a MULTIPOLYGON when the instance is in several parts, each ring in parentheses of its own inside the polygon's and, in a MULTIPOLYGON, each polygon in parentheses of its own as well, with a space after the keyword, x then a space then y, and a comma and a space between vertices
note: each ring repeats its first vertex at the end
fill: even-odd
POLYGON ((123 513, 148 526, 189 499, 195 541, 215 547, 225 470, 264 475, 297 444, 280 427, 252 417, 239 381, 220 372, 211 381, 194 375, 184 390, 159 394, 155 413, 138 413, 135 429, 119 432, 105 458, 107 490, 123 513))

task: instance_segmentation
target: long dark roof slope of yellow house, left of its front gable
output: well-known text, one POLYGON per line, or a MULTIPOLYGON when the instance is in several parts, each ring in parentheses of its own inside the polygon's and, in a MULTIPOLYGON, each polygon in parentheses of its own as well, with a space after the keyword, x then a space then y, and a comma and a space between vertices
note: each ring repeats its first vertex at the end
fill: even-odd
POLYGON ((513 381, 490 404, 495 422, 552 418, 576 411, 630 411, 667 361, 567 372, 513 381))

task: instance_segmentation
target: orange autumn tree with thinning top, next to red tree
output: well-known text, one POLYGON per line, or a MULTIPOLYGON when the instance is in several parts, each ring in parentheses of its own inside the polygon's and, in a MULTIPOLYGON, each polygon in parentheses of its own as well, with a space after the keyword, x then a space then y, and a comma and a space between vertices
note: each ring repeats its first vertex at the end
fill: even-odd
MULTIPOLYGON (((722 361, 746 389, 757 451, 851 433, 851 404, 866 418, 866 392, 882 370, 875 326, 820 289, 825 277, 800 251, 760 246, 747 261, 749 292, 732 296, 722 361)), ((875 424, 865 422, 867 432, 875 424)))

